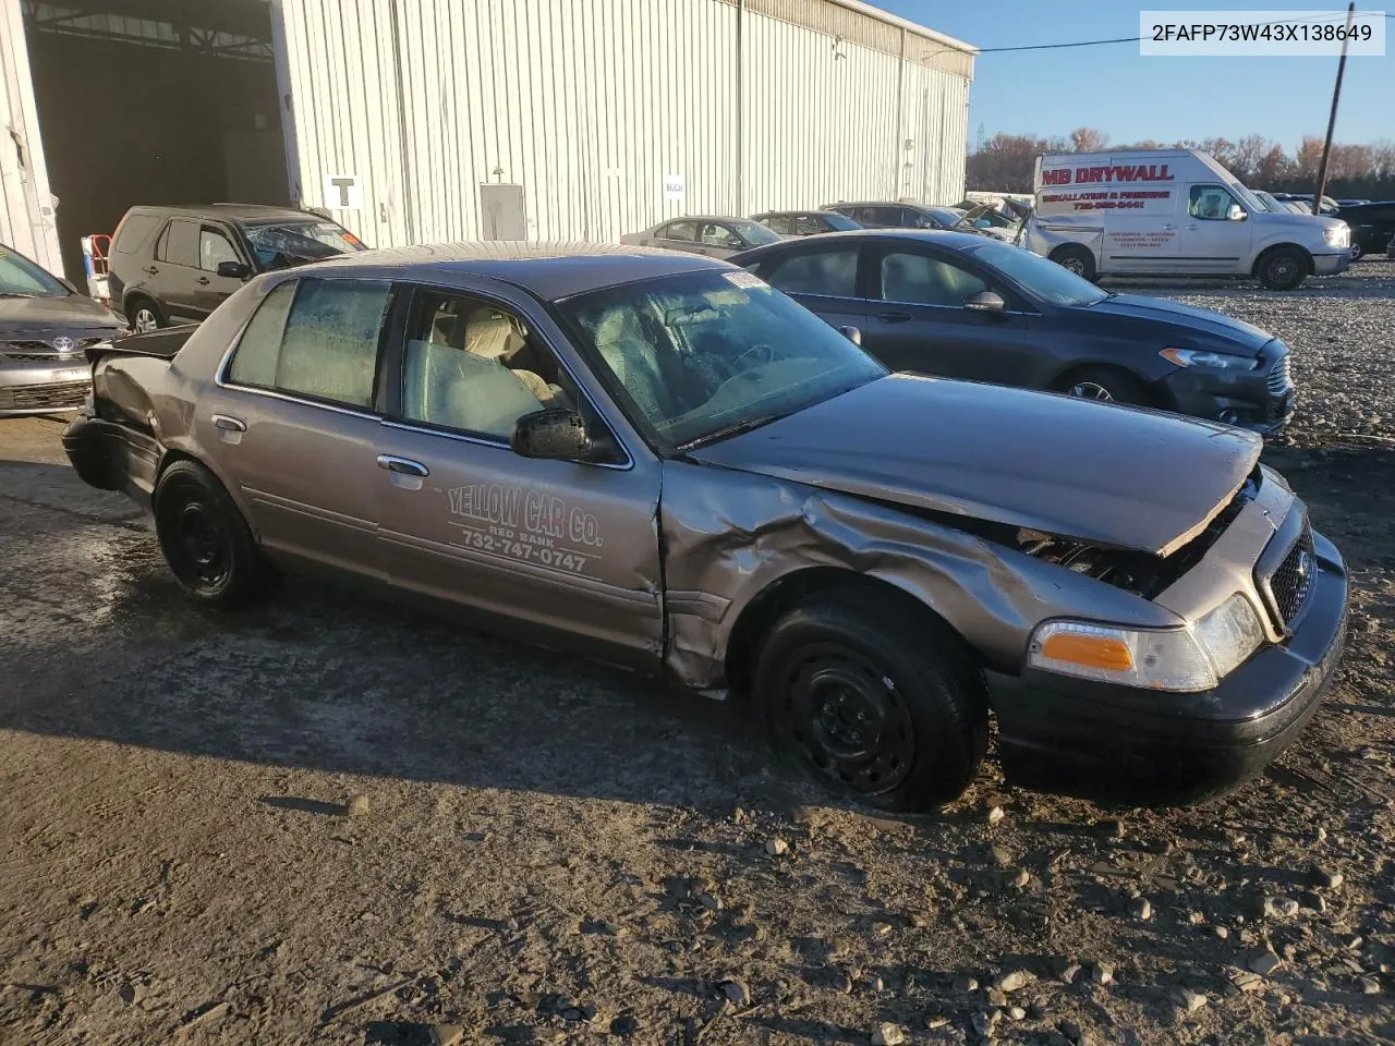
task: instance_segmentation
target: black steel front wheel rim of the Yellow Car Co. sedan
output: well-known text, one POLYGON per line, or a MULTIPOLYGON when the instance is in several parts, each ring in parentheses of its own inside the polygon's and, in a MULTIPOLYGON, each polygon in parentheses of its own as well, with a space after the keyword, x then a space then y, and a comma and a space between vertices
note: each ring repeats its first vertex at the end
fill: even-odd
POLYGON ((900 785, 915 761, 915 724, 884 669, 840 643, 808 646, 787 665, 776 715, 819 777, 861 795, 900 785))

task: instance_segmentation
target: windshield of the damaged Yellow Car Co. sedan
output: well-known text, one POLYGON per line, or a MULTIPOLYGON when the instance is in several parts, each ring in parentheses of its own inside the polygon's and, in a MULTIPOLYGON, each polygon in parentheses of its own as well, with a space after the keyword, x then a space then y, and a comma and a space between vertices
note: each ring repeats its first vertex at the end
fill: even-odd
POLYGON ((685 449, 794 414, 886 374, 749 272, 686 272, 558 303, 631 416, 685 449))

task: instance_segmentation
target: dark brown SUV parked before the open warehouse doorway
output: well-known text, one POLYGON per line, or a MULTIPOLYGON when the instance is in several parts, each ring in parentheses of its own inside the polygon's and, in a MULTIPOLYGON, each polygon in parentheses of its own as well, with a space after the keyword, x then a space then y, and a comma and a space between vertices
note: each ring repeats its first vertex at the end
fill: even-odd
POLYGON ((347 229, 308 211, 133 206, 112 238, 112 301, 137 331, 197 324, 258 272, 361 250, 347 229))

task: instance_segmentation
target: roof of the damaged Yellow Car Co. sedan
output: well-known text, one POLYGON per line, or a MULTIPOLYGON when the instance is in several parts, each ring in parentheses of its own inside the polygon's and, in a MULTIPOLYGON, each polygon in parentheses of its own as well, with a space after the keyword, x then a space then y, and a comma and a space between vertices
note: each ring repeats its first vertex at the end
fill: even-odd
POLYGON ((657 276, 704 269, 730 269, 716 258, 664 251, 631 244, 490 240, 481 243, 421 244, 384 247, 345 254, 300 266, 297 273, 315 269, 353 269, 391 279, 483 276, 512 283, 537 297, 555 301, 589 290, 614 287, 657 276), (402 271, 407 272, 403 273, 402 271))

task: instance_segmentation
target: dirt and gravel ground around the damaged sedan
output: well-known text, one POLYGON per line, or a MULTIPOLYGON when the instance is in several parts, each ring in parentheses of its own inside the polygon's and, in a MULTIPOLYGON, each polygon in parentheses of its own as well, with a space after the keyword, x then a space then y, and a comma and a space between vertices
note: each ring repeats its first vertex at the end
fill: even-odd
POLYGON ((1295 350, 1353 636, 1239 794, 879 819, 739 708, 290 582, 181 600, 0 423, 3 1043, 1395 1040, 1395 265, 1151 287, 1295 350), (887 1026, 883 1026, 887 1025, 887 1026))

